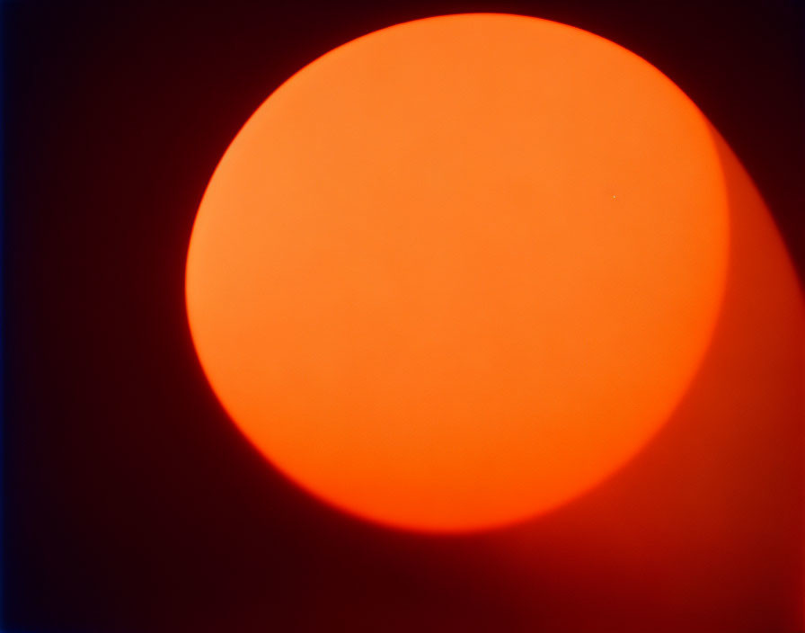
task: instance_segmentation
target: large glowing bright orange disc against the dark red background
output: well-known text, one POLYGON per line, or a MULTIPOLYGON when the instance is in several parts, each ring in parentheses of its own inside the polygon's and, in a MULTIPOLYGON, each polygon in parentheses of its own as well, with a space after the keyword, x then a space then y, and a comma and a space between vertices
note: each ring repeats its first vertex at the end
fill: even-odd
POLYGON ((247 121, 190 239, 199 359, 305 489, 414 530, 567 502, 686 392, 718 316, 708 127, 631 52, 556 22, 408 22, 247 121))

